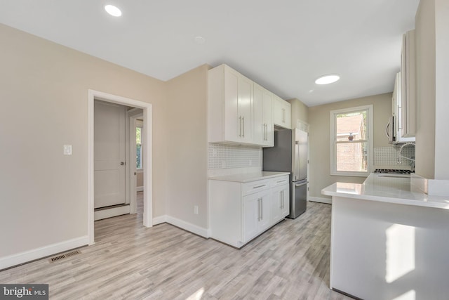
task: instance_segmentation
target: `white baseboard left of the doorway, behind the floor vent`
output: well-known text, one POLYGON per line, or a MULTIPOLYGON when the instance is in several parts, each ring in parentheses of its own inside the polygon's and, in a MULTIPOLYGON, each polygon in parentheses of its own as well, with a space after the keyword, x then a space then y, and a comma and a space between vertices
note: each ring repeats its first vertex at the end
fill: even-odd
POLYGON ((51 256, 60 252, 65 252, 74 248, 86 246, 89 243, 88 236, 76 237, 72 240, 64 242, 58 242, 55 244, 49 244, 48 246, 32 249, 18 254, 12 254, 4 257, 0 257, 0 270, 17 266, 28 261, 34 261, 46 256, 51 256))

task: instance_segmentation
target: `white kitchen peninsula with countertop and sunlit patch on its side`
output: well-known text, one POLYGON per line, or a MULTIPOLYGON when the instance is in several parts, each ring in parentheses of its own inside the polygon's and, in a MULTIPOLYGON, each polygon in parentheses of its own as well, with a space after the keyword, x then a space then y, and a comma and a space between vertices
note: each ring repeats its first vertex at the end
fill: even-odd
POLYGON ((330 288, 360 299, 449 299, 449 197, 410 178, 334 183, 330 288))

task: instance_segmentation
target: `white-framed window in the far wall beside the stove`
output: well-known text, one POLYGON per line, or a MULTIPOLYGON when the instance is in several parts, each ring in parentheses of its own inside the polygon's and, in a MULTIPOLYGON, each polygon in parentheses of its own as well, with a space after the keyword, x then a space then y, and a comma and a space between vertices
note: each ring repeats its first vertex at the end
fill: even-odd
POLYGON ((368 176, 373 164, 373 105, 330 111, 330 175, 368 176))

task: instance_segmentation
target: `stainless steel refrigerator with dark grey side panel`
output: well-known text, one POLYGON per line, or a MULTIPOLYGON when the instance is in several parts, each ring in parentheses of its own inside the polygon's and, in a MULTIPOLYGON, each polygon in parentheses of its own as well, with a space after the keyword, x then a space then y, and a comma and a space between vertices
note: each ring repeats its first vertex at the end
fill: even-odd
POLYGON ((299 129, 274 131, 274 147, 264 148, 264 171, 290 172, 290 215, 307 208, 307 144, 309 134, 299 129))

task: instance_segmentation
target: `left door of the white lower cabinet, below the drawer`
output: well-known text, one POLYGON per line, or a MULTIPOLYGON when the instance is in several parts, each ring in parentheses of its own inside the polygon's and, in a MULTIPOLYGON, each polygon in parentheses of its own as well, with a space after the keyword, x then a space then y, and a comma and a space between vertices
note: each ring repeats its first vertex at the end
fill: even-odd
POLYGON ((260 219, 259 193, 243 197, 243 242, 257 235, 257 223, 260 219))

